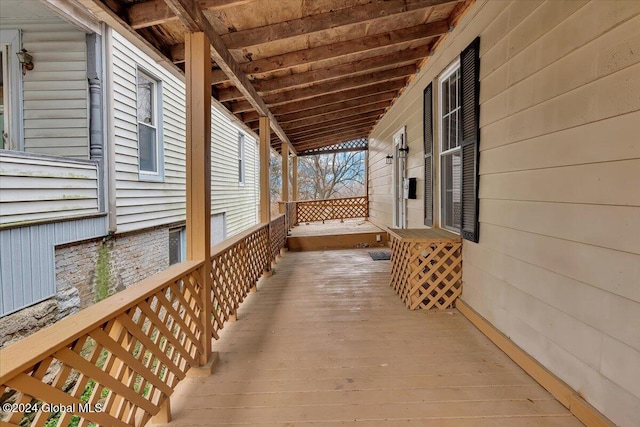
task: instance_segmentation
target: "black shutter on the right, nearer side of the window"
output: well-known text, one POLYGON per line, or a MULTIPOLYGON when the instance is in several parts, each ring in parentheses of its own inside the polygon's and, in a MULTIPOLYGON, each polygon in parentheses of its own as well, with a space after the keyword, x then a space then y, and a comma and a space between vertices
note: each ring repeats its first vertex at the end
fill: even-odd
POLYGON ((462 132, 462 237, 478 242, 478 165, 480 157, 480 38, 460 54, 460 131, 462 132))

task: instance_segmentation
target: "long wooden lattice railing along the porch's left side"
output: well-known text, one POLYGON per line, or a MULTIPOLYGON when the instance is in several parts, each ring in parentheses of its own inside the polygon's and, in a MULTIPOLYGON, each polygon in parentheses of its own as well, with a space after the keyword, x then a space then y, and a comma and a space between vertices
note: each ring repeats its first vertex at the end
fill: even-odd
POLYGON ((0 424, 145 425, 206 360, 203 343, 218 338, 285 233, 284 216, 274 218, 214 246, 210 268, 174 265, 0 350, 0 424))

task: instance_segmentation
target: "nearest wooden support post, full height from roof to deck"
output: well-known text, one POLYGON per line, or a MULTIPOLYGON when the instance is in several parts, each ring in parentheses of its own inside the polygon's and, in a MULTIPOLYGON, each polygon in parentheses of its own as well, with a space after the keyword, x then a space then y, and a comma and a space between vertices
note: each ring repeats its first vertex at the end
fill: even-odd
POLYGON ((204 261, 200 364, 211 356, 211 46, 204 33, 185 34, 187 105, 187 259, 204 261))

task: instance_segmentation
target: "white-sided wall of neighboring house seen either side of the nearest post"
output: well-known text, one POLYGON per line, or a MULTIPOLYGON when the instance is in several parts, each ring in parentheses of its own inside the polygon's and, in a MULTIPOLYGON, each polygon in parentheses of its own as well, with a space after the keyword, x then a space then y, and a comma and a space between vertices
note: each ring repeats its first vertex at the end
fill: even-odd
MULTIPOLYGON (((118 232, 184 221, 185 197, 185 85, 115 31, 113 54, 113 135, 116 153, 118 232), (138 176, 136 122, 136 66, 162 81, 164 181, 141 181, 138 176)), ((227 235, 256 222, 257 156, 255 139, 246 137, 246 179, 238 185, 238 126, 213 102, 212 214, 225 213, 227 235)))

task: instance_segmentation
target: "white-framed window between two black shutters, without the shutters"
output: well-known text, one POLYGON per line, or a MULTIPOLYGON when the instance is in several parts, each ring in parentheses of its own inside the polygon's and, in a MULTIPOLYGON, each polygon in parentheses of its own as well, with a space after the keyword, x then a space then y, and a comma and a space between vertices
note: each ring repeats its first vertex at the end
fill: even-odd
POLYGON ((460 62, 447 67, 438 78, 440 128, 440 224, 460 232, 462 164, 460 162, 460 62))

